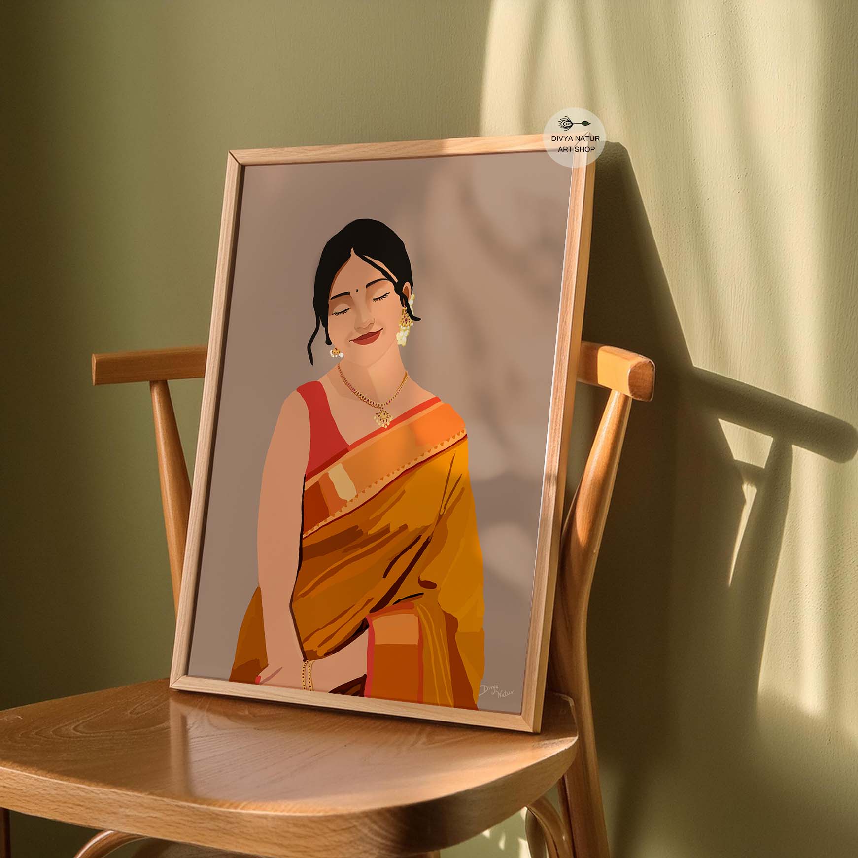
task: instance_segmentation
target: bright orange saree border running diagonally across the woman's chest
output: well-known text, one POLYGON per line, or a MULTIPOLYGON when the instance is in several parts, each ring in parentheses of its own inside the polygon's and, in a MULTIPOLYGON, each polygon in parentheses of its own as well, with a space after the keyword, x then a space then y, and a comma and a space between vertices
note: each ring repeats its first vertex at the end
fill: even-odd
POLYGON ((302 536, 357 509, 410 468, 449 450, 467 434, 455 409, 437 402, 390 432, 347 450, 306 481, 302 536))

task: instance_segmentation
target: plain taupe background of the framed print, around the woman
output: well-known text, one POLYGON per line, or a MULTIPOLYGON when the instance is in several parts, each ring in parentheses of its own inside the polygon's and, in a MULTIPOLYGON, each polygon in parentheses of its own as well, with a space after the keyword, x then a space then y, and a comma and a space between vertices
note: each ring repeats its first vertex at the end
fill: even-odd
POLYGON ((232 668, 276 416, 333 362, 321 331, 314 366, 306 353, 318 257, 371 217, 411 258, 421 321, 408 372, 468 427, 485 571, 480 708, 521 709, 569 179, 544 153, 246 168, 189 674, 232 668))

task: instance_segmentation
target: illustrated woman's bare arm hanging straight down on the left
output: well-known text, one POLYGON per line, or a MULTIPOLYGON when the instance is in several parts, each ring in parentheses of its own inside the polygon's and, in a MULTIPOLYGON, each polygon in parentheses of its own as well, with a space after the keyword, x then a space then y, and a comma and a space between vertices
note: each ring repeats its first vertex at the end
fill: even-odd
POLYGON ((310 418, 296 391, 283 402, 265 457, 259 492, 257 563, 268 667, 261 682, 300 687, 304 654, 290 606, 298 575, 304 471, 310 418))

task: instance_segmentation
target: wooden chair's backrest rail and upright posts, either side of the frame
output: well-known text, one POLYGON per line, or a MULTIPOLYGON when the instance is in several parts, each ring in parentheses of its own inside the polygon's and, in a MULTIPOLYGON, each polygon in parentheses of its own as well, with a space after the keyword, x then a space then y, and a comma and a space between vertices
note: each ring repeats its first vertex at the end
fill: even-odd
MULTIPOLYGON (((178 378, 202 378, 206 352, 205 346, 192 346, 93 355, 93 384, 149 383, 176 607, 190 481, 167 383, 178 378)), ((639 354, 593 342, 581 344, 578 380, 607 388, 610 393, 563 525, 547 680, 549 689, 571 698, 575 707, 578 751, 575 763, 559 784, 559 797, 577 855, 601 858, 608 854, 587 668, 587 608, 631 401, 652 398, 655 371, 653 362, 639 354), (575 813, 571 807, 576 808, 575 813)))

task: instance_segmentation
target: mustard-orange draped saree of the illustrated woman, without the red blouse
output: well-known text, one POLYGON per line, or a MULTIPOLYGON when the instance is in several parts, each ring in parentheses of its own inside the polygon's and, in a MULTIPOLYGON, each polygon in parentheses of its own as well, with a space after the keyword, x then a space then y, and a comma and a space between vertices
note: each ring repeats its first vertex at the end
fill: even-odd
MULTIPOLYGON (((334 691, 477 708, 483 565, 462 418, 435 400, 305 479, 292 613, 305 658, 369 628, 366 677, 334 691)), ((242 622, 230 680, 268 664, 262 594, 242 622)))

